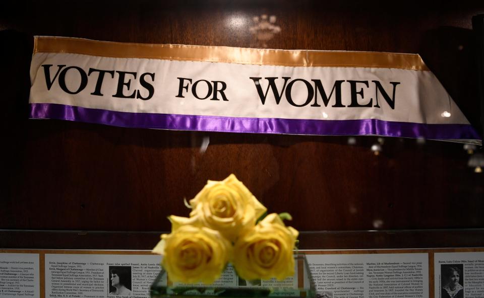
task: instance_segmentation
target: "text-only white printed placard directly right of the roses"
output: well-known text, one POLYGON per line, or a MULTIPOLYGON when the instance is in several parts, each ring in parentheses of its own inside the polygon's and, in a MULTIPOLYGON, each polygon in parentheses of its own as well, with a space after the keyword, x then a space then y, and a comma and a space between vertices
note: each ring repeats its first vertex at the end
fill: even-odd
POLYGON ((429 296, 427 253, 311 254, 307 258, 322 297, 429 296))

